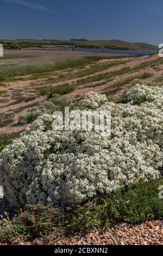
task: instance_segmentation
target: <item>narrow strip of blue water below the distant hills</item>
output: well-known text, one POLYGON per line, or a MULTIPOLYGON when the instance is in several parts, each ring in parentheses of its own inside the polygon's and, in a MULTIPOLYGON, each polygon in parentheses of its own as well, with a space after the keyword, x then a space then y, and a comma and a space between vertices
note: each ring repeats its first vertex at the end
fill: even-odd
POLYGON ((157 50, 114 50, 114 49, 106 49, 102 50, 99 48, 74 48, 74 51, 82 51, 82 52, 97 52, 97 53, 110 53, 110 54, 128 54, 128 55, 147 55, 150 53, 156 53, 157 50))

